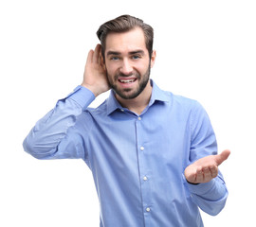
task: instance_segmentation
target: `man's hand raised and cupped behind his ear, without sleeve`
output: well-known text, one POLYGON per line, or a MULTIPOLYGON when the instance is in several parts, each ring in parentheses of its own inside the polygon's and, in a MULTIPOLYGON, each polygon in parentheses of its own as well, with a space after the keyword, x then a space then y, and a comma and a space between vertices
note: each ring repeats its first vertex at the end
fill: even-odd
POLYGON ((97 44, 95 50, 90 50, 88 53, 82 86, 89 89, 95 96, 110 89, 101 56, 101 44, 97 44))

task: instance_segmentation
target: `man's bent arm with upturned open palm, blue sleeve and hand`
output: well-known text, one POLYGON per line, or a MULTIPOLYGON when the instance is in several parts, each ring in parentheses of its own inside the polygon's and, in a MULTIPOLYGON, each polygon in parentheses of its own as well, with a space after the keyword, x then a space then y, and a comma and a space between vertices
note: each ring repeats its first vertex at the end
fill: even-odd
POLYGON ((217 154, 217 143, 208 114, 200 104, 192 110, 190 162, 184 171, 192 201, 210 215, 217 215, 225 206, 228 190, 218 171, 229 157, 229 150, 217 154))

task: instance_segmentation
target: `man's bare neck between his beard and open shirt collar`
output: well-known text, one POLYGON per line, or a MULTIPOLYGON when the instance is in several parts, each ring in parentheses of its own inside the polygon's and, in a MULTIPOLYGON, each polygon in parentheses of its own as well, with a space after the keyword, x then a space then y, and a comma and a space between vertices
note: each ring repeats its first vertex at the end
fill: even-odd
POLYGON ((139 115, 148 106, 150 102, 151 94, 152 94, 152 86, 149 80, 143 92, 141 92, 137 97, 133 99, 124 99, 118 95, 116 95, 116 97, 122 107, 125 107, 128 110, 139 115))

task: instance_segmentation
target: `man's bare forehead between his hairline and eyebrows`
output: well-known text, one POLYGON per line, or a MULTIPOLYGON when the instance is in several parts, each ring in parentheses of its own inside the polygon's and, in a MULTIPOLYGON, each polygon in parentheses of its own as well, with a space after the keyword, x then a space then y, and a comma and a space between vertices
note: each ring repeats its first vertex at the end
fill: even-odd
POLYGON ((126 52, 134 49, 146 51, 145 36, 141 28, 137 27, 121 33, 110 33, 106 37, 105 52, 126 52))

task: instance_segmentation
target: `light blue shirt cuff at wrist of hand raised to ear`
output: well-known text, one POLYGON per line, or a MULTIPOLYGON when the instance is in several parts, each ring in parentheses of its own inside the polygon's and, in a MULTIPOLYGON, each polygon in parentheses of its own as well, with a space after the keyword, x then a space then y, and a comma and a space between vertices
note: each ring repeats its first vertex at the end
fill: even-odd
POLYGON ((82 110, 85 110, 95 99, 95 96, 89 89, 79 85, 66 98, 77 102, 82 107, 82 110))

